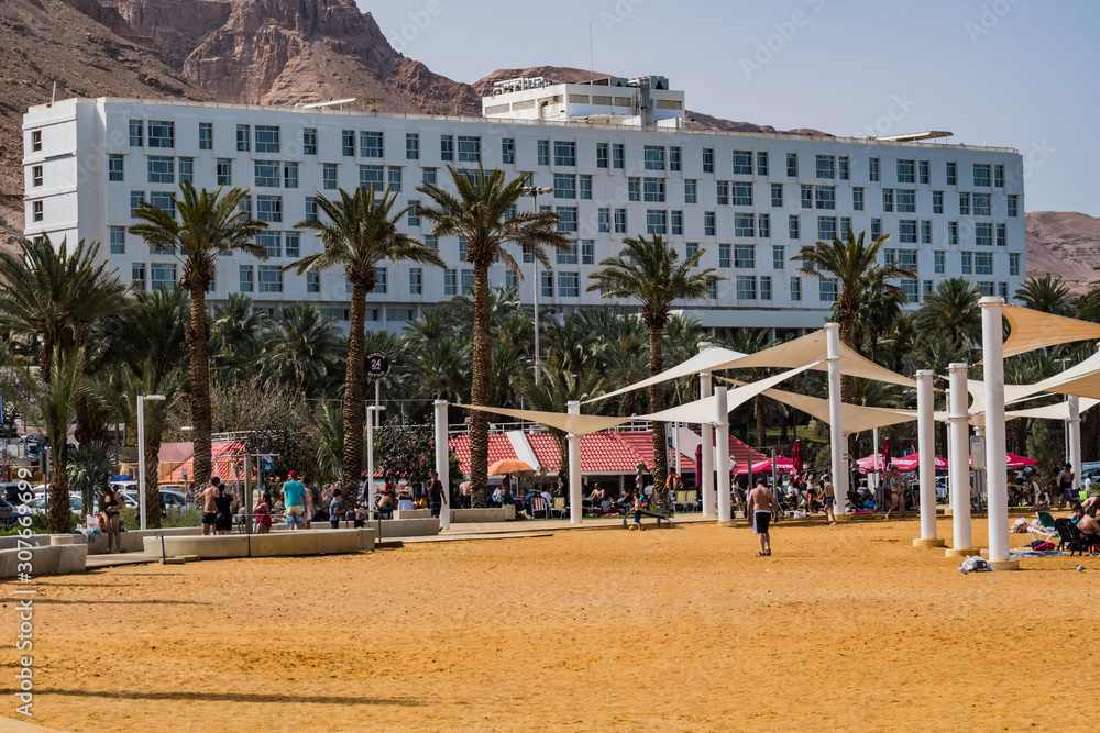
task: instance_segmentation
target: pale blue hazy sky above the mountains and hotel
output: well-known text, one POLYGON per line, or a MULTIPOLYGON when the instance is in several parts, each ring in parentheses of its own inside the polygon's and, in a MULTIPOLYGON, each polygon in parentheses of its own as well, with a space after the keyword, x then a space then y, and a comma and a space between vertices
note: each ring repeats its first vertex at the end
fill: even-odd
POLYGON ((948 130, 1018 148, 1027 211, 1100 215, 1089 0, 358 0, 395 48, 475 81, 497 68, 661 74, 688 107, 779 129, 948 130), (898 107, 894 108, 900 109, 898 107))

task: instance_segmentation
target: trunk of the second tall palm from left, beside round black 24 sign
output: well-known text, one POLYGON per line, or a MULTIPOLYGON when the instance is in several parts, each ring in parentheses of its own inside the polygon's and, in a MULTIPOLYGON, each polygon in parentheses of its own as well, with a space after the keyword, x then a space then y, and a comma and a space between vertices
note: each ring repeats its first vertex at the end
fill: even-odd
MULTIPOLYGON (((348 369, 344 373, 343 463, 340 466, 340 506, 355 508, 359 477, 363 473, 363 386, 366 379, 363 353, 366 325, 366 286, 351 286, 351 329, 348 333, 348 369)), ((367 477, 367 487, 374 480, 367 477)))

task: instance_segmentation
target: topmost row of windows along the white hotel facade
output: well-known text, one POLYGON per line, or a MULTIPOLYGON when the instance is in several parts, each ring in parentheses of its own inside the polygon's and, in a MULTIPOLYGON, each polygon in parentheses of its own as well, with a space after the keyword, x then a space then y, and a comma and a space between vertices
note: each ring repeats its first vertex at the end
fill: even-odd
MULTIPOLYGON (((146 124, 143 120, 130 121, 130 146, 151 148, 174 148, 175 147, 175 123, 172 121, 150 121, 148 132, 145 132, 146 124)), ((42 149, 41 131, 32 132, 32 151, 42 149)), ((317 155, 318 132, 316 127, 302 130, 301 143, 295 145, 304 155, 317 155)), ((365 158, 384 157, 384 134, 382 132, 342 130, 340 132, 341 153, 346 157, 354 157, 356 154, 356 141, 359 143, 359 156, 365 158)), ((199 149, 213 149, 213 123, 199 123, 199 149)), ((280 142, 280 131, 278 125, 255 125, 254 129, 246 124, 237 125, 235 136, 238 152, 256 153, 280 153, 283 145, 280 142)), ((575 167, 576 166, 576 143, 573 141, 537 141, 538 165, 549 166, 552 160, 554 166, 575 167)), ((419 133, 405 134, 405 157, 409 160, 420 159, 420 135, 419 133)), ((440 135, 439 157, 441 160, 458 163, 482 163, 482 141, 476 135, 440 135)), ((626 144, 625 143, 595 143, 595 158, 597 168, 625 168, 626 167, 626 144)), ((664 145, 644 145, 641 162, 646 170, 672 170, 682 169, 682 151, 676 146, 666 147, 664 145)), ((501 141, 501 163, 514 164, 516 162, 516 141, 506 137, 501 141)), ((715 171, 715 149, 703 148, 701 156, 701 167, 703 173, 715 171)), ((734 151, 733 157, 734 176, 752 176, 754 163, 757 176, 770 175, 770 159, 767 151, 734 151)), ((815 155, 815 175, 822 180, 849 180, 851 177, 851 160, 847 155, 815 155)), ((924 184, 932 182, 932 164, 930 160, 919 160, 916 158, 902 158, 895 160, 897 179, 899 184, 924 184)), ((974 185, 979 188, 998 187, 1003 188, 1005 184, 1005 168, 1003 164, 975 163, 972 164, 974 185)), ((881 159, 878 157, 868 158, 867 175, 870 181, 881 180, 881 159)), ((799 154, 787 154, 787 176, 789 178, 799 177, 799 154)), ((953 160, 945 162, 944 184, 947 186, 958 185, 958 164, 953 160)))

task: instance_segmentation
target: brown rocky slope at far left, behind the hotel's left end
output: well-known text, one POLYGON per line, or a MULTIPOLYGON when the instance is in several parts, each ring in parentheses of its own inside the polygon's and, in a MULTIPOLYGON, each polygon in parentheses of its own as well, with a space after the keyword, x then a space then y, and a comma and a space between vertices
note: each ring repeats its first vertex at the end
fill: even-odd
MULTIPOLYGON (((0 47, 0 193, 16 198, 23 189, 23 113, 48 102, 54 82, 58 99, 210 98, 96 0, 2 0, 0 47)), ((22 227, 22 204, 0 202, 0 241, 10 243, 22 227)))

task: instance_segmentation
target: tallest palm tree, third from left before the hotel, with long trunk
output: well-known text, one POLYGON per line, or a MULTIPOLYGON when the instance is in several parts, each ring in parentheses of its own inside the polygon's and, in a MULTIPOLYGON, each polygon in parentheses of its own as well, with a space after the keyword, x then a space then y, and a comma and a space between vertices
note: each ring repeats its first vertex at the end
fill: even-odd
MULTIPOLYGON (((433 222, 432 236, 458 236, 466 244, 465 262, 474 269, 474 345, 471 403, 490 403, 493 356, 490 346, 488 268, 497 258, 521 276, 519 265, 505 248, 509 243, 527 248, 544 267, 550 259, 544 247, 568 249, 570 237, 557 231, 557 214, 516 213, 516 203, 531 174, 507 180, 501 170, 458 170, 448 166, 457 193, 435 185, 418 190, 431 199, 420 215, 433 222)), ((470 415, 470 481, 475 507, 484 506, 488 485, 488 413, 473 410, 470 415)))

